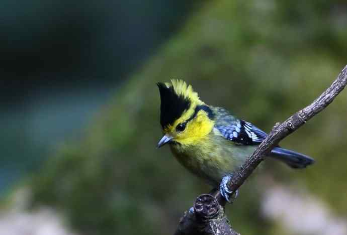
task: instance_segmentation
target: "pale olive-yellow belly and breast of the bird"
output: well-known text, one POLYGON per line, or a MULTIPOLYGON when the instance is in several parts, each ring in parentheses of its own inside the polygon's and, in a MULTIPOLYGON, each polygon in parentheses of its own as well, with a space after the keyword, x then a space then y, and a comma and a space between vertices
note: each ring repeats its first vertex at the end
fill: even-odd
POLYGON ((205 143, 209 144, 202 143, 189 148, 170 145, 170 148, 184 167, 214 187, 220 184, 224 176, 237 170, 256 148, 256 146, 235 145, 221 139, 205 143))

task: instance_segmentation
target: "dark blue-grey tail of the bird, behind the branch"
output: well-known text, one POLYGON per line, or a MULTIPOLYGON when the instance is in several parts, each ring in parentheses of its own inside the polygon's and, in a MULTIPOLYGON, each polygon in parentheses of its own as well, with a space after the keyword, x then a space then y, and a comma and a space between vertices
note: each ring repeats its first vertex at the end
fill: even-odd
POLYGON ((280 147, 274 148, 271 153, 270 157, 280 160, 292 168, 305 168, 314 163, 314 159, 309 156, 280 147))

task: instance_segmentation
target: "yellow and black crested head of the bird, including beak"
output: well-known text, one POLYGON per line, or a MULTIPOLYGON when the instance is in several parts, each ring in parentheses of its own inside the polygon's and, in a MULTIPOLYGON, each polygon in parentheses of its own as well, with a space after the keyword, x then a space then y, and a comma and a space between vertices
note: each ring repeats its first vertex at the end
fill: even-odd
POLYGON ((160 125, 164 136, 157 147, 167 143, 198 144, 213 129, 214 113, 200 100, 191 85, 182 80, 157 83, 160 93, 160 125))

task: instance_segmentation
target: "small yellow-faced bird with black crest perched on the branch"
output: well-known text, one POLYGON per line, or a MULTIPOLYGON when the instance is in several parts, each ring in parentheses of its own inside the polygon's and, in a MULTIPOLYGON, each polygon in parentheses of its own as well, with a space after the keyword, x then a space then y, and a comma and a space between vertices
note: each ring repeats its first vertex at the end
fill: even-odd
MULTIPOLYGON (((185 168, 219 188, 221 195, 232 202, 238 191, 229 190, 229 180, 268 134, 223 107, 206 104, 183 80, 171 79, 157 86, 163 132, 157 148, 168 144, 185 168)), ((269 157, 298 169, 314 163, 309 156, 279 146, 269 157)))

